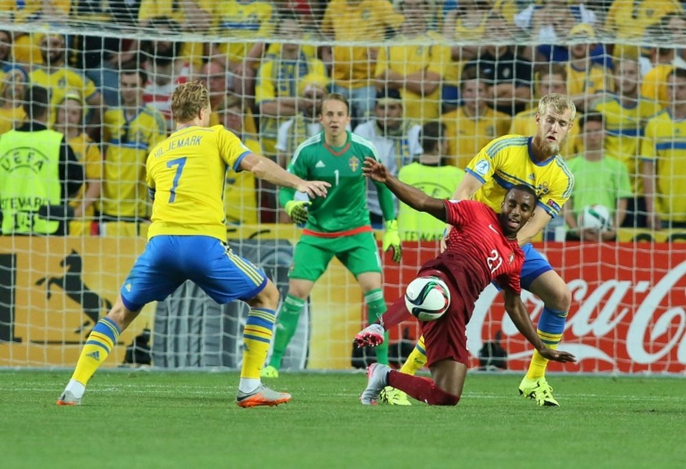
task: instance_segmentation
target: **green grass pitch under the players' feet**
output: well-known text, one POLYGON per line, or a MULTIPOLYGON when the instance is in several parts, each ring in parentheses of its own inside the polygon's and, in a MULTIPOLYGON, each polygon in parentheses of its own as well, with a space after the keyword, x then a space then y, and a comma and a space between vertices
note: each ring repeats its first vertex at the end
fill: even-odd
POLYGON ((233 372, 107 372, 57 407, 69 372, 0 371, 0 467, 685 468, 683 378, 552 375, 560 408, 519 374, 467 376, 457 407, 357 400, 359 373, 282 373, 274 408, 235 405, 233 372))

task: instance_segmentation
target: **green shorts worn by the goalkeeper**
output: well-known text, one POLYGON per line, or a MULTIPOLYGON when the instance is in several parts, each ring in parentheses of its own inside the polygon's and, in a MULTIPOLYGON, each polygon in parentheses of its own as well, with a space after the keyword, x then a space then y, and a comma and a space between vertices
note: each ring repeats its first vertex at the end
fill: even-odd
POLYGON ((293 254, 289 278, 316 282, 333 256, 357 278, 365 272, 381 273, 381 257, 374 233, 364 232, 338 238, 320 238, 303 234, 293 254))

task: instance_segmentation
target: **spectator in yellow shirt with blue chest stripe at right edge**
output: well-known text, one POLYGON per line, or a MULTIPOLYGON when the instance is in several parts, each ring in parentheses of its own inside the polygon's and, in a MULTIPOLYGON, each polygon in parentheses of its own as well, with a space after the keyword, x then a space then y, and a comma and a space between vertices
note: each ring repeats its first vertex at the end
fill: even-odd
POLYGON ((641 143, 648 228, 686 228, 686 69, 667 76, 672 104, 646 124, 641 143))

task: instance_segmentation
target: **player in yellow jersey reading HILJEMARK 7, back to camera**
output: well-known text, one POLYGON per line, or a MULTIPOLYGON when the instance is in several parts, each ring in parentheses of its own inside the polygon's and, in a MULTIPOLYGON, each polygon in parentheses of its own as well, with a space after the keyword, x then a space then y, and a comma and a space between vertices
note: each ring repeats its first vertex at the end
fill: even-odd
POLYGON ((57 400, 80 405, 88 380, 148 302, 164 300, 193 280, 220 304, 244 300, 250 313, 243 333, 243 364, 238 385, 240 407, 277 405, 290 394, 261 384, 279 291, 261 269, 234 254, 226 244, 224 174, 228 167, 258 178, 325 196, 329 184, 304 181, 268 158, 253 154, 222 125, 208 128, 210 104, 199 82, 180 85, 171 96, 176 132, 152 148, 146 181, 152 196, 152 226, 145 251, 124 280, 115 305, 86 339, 76 369, 57 400))

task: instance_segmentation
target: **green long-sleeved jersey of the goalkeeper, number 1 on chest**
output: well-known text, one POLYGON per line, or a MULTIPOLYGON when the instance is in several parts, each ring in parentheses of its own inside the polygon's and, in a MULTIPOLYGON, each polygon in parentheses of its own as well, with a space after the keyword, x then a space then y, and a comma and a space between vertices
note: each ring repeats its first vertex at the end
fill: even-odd
MULTIPOLYGON (((354 230, 369 225, 366 178, 362 174, 364 158, 379 160, 374 144, 352 132, 342 147, 331 147, 324 141, 324 132, 303 142, 291 159, 288 171, 305 180, 331 184, 327 197, 316 197, 309 206, 305 228, 314 232, 332 233, 354 230)), ((392 194, 376 183, 381 211, 386 220, 394 219, 392 194)), ((292 200, 295 191, 281 188, 282 206, 292 200)))

